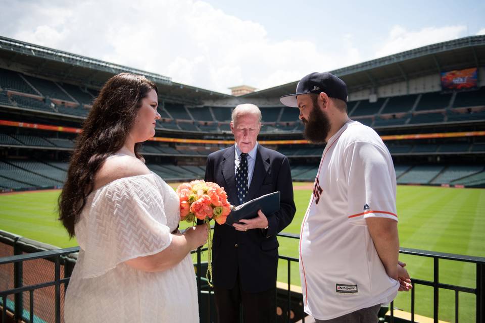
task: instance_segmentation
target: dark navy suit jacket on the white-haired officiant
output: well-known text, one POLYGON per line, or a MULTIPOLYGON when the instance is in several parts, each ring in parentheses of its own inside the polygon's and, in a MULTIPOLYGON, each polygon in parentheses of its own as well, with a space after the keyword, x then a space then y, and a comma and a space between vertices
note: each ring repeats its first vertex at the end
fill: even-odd
MULTIPOLYGON (((238 205, 234 182, 235 146, 211 153, 207 158, 205 180, 224 187, 228 200, 238 205)), ((214 286, 231 289, 237 273, 246 292, 261 292, 276 286, 278 241, 276 233, 295 216, 293 183, 286 156, 258 144, 253 177, 246 201, 280 191, 280 209, 268 218, 267 230, 241 232, 228 225, 215 224, 212 247, 214 286)))

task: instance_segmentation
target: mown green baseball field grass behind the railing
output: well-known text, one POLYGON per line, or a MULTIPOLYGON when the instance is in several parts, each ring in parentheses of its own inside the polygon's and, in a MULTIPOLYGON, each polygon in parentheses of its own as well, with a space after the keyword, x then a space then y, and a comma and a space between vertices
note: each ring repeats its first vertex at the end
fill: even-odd
MULTIPOLYGON (((311 191, 300 183, 295 188, 297 213, 283 232, 299 234, 311 191)), ((69 240, 57 221, 58 196, 59 191, 0 194, 0 229, 59 247, 76 246, 75 239, 69 240)), ((402 247, 485 257, 485 189, 399 186, 397 209, 402 247)), ((278 240, 280 255, 298 258, 297 239, 278 240)), ((401 255, 400 259, 407 262, 411 277, 432 280, 431 258, 401 255)), ((440 282, 475 287, 474 264, 450 260, 440 260, 439 264, 440 282)), ((290 264, 290 269, 290 284, 300 286, 298 263, 290 264)), ((287 283, 286 260, 280 260, 278 281, 287 283)), ((431 317, 432 288, 418 285, 415 293, 416 312, 431 317)), ((410 293, 400 293, 395 306, 409 311, 410 299, 410 293)), ((441 320, 455 320, 454 301, 454 292, 440 289, 441 320)), ((475 321, 474 310, 475 296, 459 293, 459 320, 475 321)))

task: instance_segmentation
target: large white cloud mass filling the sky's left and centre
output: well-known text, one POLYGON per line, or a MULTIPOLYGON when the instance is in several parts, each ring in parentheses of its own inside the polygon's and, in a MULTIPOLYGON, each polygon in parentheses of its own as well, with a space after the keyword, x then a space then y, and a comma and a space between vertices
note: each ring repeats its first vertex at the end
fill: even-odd
POLYGON ((328 52, 306 40, 271 41, 261 24, 203 1, 14 3, 2 6, 0 34, 225 93, 229 86, 263 89, 362 60, 350 34, 328 52))

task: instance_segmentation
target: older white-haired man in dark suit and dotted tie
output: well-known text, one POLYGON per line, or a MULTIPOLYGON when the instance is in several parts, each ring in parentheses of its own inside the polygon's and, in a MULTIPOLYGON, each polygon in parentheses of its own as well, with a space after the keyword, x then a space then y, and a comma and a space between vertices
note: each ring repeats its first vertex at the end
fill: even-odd
MULTIPOLYGON (((272 322, 278 265, 276 234, 295 216, 293 183, 286 156, 258 144, 261 111, 237 105, 231 131, 235 144, 211 153, 205 180, 224 187, 232 205, 280 191, 280 209, 233 226, 215 224, 212 247, 214 296, 219 323, 272 322)), ((256 214, 255 214, 256 216, 256 214)))

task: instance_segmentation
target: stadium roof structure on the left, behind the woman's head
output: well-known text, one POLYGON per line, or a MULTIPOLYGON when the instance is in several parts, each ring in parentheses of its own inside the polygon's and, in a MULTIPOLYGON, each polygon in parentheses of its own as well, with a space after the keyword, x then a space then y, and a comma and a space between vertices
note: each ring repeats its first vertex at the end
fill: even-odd
POLYGON ((229 94, 172 82, 170 77, 160 74, 3 36, 0 36, 0 63, 19 72, 95 88, 101 87, 111 76, 118 73, 141 74, 157 84, 161 97, 177 102, 198 104, 207 99, 232 97, 229 94))

